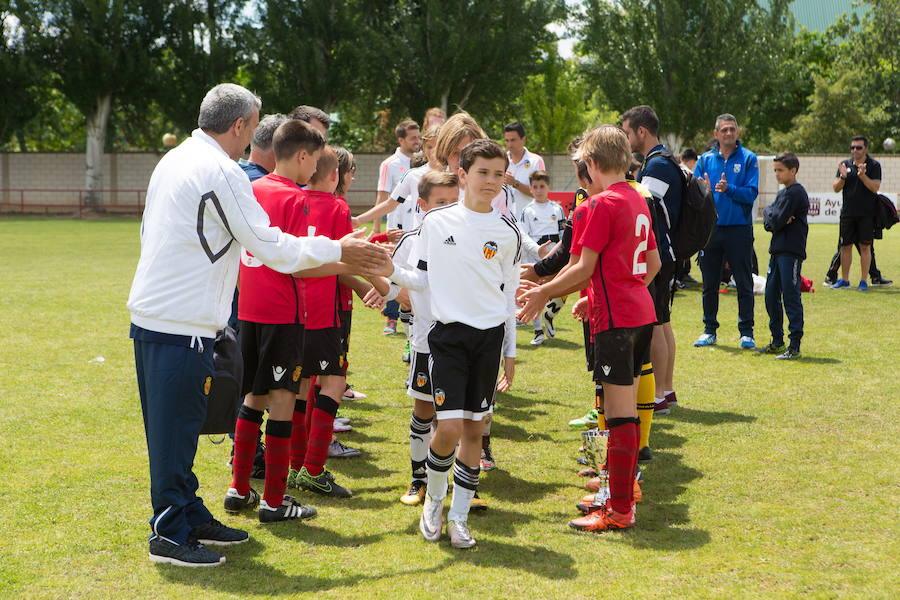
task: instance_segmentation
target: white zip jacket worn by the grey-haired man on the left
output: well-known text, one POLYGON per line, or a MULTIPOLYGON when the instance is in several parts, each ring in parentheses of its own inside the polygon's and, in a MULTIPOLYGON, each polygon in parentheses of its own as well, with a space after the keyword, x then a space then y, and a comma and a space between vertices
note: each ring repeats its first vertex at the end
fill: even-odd
POLYGON ((150 177, 141 257, 128 296, 131 322, 161 333, 215 337, 231 315, 241 246, 282 273, 341 257, 337 241, 270 227, 244 171, 196 129, 150 177))

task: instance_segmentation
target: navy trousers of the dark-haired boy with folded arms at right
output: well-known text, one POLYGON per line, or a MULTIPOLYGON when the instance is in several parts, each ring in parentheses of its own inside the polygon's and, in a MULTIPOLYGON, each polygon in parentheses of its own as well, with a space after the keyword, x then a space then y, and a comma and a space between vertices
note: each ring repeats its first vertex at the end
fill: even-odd
POLYGON ((791 348, 800 350, 803 338, 803 303, 800 301, 800 266, 803 261, 790 254, 775 254, 769 259, 766 274, 766 311, 772 343, 784 343, 784 312, 788 316, 788 337, 791 348))

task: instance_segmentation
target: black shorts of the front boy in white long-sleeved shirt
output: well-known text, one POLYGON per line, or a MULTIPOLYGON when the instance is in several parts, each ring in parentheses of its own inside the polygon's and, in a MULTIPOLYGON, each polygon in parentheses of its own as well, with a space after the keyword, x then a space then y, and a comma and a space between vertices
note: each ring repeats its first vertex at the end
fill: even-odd
POLYGON ((428 334, 437 419, 480 421, 494 403, 505 326, 437 322, 428 334))

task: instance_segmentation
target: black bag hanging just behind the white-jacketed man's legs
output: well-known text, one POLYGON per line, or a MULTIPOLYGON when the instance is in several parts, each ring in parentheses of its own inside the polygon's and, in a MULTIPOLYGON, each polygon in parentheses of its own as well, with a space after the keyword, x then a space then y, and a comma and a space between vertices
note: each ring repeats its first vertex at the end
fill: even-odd
POLYGON ((244 379, 244 360, 241 345, 231 327, 216 336, 213 347, 215 373, 206 402, 206 420, 201 434, 234 433, 237 413, 241 407, 241 385, 244 379))

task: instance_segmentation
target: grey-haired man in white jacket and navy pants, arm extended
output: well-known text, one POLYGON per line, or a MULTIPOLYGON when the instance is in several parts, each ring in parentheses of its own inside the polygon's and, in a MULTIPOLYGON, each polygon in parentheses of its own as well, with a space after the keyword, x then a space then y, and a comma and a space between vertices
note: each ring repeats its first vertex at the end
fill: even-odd
POLYGON ((141 222, 141 256, 128 297, 150 458, 150 559, 213 566, 204 544, 246 541, 197 497, 192 468, 213 376, 213 341, 231 312, 241 247, 272 269, 294 273, 343 261, 361 270, 389 261, 348 236, 296 238, 269 226, 235 160, 259 122, 261 102, 221 84, 200 106, 199 128, 153 171, 141 222))

